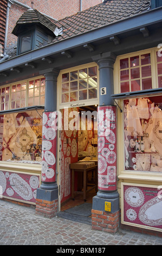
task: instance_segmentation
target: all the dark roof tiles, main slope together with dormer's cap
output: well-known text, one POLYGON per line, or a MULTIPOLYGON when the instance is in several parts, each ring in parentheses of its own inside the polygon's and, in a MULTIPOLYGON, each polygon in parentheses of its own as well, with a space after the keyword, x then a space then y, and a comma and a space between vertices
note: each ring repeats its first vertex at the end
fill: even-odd
MULTIPOLYGON (((56 36, 51 41, 54 43, 144 13, 150 5, 151 0, 105 0, 101 4, 55 22, 50 21, 39 11, 29 9, 20 17, 16 26, 24 22, 26 24, 40 22, 53 32, 56 27, 63 28, 62 35, 56 36)), ((9 56, 9 58, 13 57, 10 53, 9 56)))

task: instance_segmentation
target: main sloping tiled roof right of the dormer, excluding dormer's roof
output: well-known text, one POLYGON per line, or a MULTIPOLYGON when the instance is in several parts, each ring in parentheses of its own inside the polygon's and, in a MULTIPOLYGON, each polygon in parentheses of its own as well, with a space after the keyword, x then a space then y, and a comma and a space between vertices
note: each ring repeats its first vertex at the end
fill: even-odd
POLYGON ((57 27, 63 28, 63 34, 57 36, 53 42, 143 13, 150 4, 151 0, 105 0, 101 4, 55 22, 57 27))

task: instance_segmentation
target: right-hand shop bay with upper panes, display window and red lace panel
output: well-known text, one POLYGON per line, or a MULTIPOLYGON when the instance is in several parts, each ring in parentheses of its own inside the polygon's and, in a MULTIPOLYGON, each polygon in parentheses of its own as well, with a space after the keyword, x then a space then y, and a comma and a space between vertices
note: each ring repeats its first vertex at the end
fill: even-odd
POLYGON ((157 47, 120 56, 116 62, 120 93, 112 95, 122 109, 118 119, 121 224, 160 232, 161 61, 157 47))

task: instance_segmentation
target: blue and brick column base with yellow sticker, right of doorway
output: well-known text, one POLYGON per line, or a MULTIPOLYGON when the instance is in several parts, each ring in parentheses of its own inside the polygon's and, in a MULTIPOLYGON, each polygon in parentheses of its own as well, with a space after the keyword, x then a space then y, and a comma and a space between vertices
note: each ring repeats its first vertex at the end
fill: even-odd
POLYGON ((120 226, 119 193, 107 193, 106 196, 107 198, 93 197, 92 229, 114 234, 120 226), (116 196, 115 198, 113 198, 113 194, 116 196), (108 210, 106 209, 107 203, 110 206, 108 210))

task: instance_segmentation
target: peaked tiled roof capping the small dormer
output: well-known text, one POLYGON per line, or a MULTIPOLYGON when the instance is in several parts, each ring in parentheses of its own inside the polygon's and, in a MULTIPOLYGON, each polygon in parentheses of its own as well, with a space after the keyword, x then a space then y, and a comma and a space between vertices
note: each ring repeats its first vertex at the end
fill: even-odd
POLYGON ((42 26, 48 28, 50 31, 54 32, 56 25, 54 22, 51 22, 46 16, 41 14, 36 9, 29 9, 23 13, 23 15, 16 22, 16 26, 12 31, 12 34, 17 34, 17 29, 19 26, 28 24, 32 25, 33 23, 39 23, 42 26))

